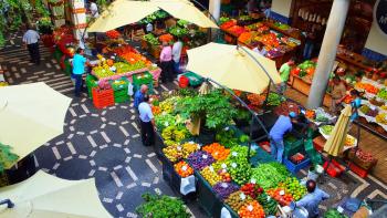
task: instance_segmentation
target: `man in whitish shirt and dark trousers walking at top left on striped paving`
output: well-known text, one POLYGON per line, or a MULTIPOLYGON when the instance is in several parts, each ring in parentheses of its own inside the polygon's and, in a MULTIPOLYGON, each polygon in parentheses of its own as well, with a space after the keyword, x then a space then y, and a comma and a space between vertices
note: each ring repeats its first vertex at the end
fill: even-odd
POLYGON ((27 32, 23 35, 24 46, 29 50, 31 62, 40 64, 40 52, 39 52, 39 40, 40 35, 36 32, 34 25, 29 25, 27 32))

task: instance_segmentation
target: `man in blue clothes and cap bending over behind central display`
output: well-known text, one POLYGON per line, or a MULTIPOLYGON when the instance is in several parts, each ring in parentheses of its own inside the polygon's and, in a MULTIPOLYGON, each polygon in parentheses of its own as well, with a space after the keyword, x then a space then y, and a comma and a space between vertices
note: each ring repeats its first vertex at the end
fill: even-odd
POLYGON ((276 159, 276 162, 282 163, 282 156, 284 152, 283 137, 286 133, 293 129, 293 123, 296 123, 296 114, 290 112, 287 116, 281 115, 273 127, 270 129, 270 149, 271 155, 276 159))

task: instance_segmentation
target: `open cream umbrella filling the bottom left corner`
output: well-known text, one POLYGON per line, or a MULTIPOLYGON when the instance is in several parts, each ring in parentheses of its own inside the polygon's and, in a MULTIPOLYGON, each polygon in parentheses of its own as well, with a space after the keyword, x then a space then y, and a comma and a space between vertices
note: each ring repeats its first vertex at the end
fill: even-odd
POLYGON ((112 217, 100 201, 94 178, 67 180, 42 170, 29 179, 0 188, 2 218, 104 218, 112 217))

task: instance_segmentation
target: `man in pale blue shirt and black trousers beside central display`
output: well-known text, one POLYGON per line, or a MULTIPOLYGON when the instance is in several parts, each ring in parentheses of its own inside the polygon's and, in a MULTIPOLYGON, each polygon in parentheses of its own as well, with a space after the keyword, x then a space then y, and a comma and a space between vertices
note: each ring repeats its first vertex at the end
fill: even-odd
POLYGON ((149 95, 144 96, 144 102, 138 105, 142 141, 144 146, 155 143, 155 118, 149 104, 149 95))

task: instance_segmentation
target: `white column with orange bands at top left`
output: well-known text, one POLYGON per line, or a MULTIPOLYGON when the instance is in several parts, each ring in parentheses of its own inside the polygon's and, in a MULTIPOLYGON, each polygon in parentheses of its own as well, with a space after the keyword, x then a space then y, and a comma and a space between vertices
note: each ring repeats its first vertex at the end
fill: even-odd
MULTIPOLYGON (((86 9, 84 0, 72 0, 72 20, 74 24, 74 38, 80 40, 86 28, 86 9)), ((86 38, 86 35, 85 35, 86 38)))

